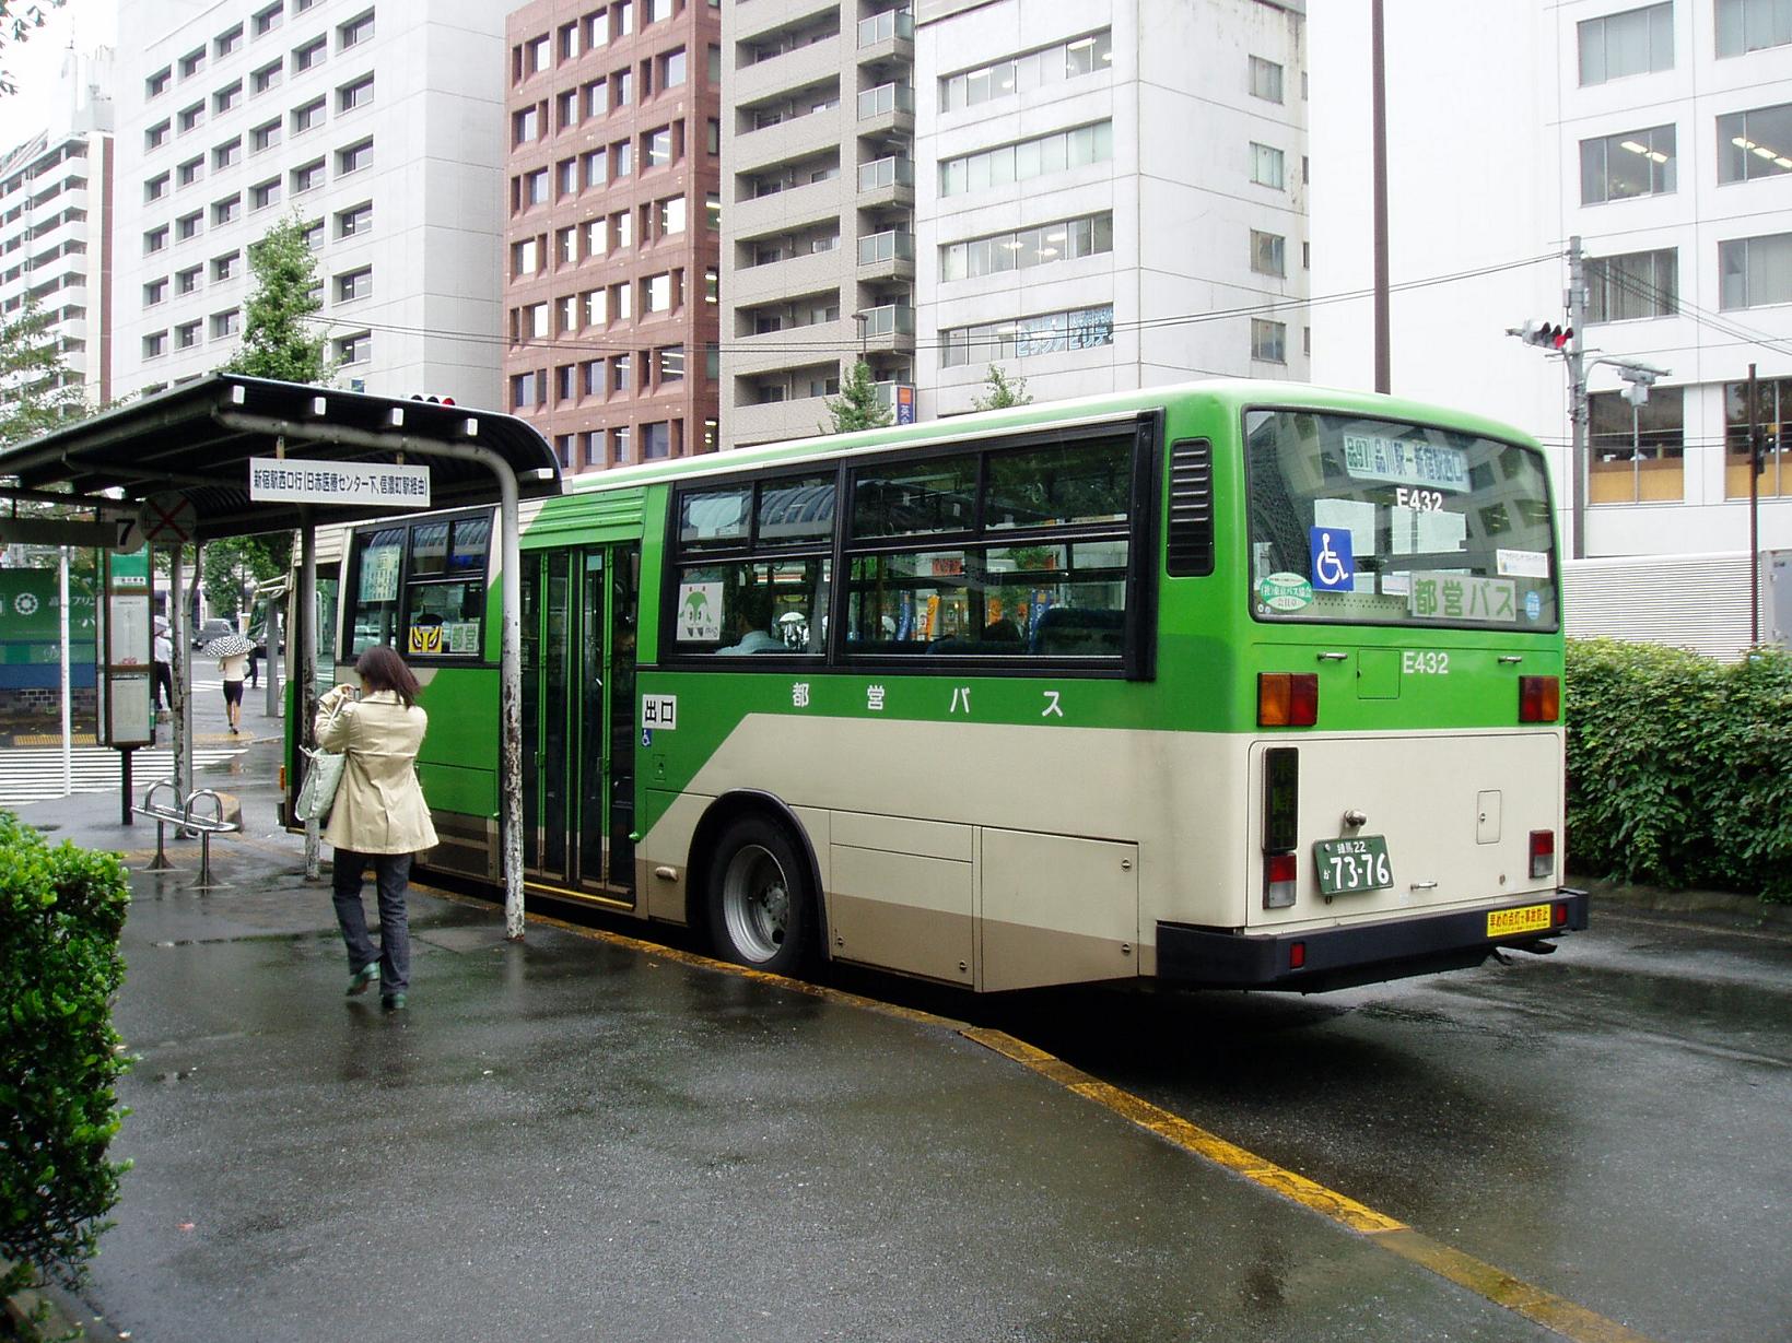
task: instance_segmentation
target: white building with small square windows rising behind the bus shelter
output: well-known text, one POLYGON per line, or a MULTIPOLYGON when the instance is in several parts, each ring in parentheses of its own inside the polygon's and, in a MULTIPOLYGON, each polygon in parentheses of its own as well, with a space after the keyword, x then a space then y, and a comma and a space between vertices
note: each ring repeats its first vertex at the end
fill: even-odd
POLYGON ((337 381, 500 405, 504 14, 473 0, 120 0, 120 390, 222 365, 296 215, 337 381))

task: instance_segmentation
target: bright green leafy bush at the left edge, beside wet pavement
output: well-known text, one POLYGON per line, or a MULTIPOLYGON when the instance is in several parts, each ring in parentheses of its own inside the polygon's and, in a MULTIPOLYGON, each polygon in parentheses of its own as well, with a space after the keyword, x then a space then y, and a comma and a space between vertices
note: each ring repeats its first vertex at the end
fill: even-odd
POLYGON ((106 1160, 129 1065, 111 1026, 131 885, 116 854, 0 811, 0 1296, 79 1280, 129 1162, 106 1160))

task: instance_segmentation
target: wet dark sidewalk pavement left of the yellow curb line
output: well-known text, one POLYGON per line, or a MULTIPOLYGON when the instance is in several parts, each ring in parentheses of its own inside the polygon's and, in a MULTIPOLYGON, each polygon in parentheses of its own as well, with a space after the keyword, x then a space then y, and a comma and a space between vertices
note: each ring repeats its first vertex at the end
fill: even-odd
POLYGON ((20 811, 136 856, 88 1338, 1552 1338, 950 1021, 416 888, 410 1008, 344 997, 276 743, 210 894, 20 811))

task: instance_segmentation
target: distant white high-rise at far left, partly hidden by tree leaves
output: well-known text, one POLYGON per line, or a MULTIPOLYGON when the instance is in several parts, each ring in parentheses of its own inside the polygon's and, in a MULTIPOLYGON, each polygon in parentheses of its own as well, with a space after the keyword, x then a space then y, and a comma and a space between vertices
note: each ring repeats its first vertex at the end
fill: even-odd
MULTIPOLYGON (((111 399, 113 52, 73 50, 41 129, 0 158, 0 321, 50 313, 65 381, 111 399)), ((23 118, 14 120, 20 125, 23 118)))

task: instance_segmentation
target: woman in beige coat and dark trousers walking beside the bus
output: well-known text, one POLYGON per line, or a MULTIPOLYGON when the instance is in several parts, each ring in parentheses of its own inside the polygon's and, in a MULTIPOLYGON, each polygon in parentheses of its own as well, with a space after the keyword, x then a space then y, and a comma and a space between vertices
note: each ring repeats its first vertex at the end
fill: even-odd
POLYGON ((418 679, 403 659, 376 645, 355 663, 362 697, 335 686, 317 702, 317 745, 348 759, 324 840, 335 847, 335 908, 348 945, 349 994, 380 985, 380 1001, 405 1006, 410 931, 405 888, 412 854, 435 845, 435 825, 418 784, 418 747, 428 714, 418 707, 418 679), (380 951, 367 937, 360 881, 373 863, 380 895, 380 951))

